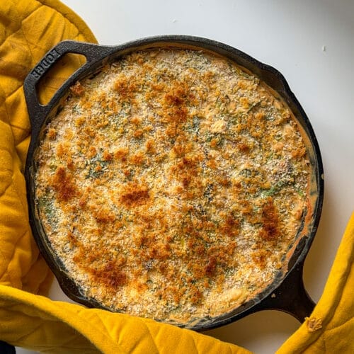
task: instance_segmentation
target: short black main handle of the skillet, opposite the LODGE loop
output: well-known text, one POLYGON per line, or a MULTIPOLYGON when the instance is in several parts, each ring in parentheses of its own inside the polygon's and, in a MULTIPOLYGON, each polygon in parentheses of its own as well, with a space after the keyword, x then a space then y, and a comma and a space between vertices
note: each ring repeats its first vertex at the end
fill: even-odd
POLYGON ((316 304, 304 288, 303 267, 303 262, 297 264, 282 281, 280 287, 256 305, 256 311, 263 309, 280 310, 291 314, 301 323, 305 317, 309 317, 316 304))

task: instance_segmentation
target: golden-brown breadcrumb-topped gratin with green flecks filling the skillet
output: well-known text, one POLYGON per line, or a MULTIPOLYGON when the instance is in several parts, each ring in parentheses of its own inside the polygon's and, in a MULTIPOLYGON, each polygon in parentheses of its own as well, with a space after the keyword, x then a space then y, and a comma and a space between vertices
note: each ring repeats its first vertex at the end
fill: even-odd
POLYGON ((42 226, 81 293, 175 324, 265 290, 309 208, 294 115, 199 50, 134 52, 78 81, 35 159, 42 226))

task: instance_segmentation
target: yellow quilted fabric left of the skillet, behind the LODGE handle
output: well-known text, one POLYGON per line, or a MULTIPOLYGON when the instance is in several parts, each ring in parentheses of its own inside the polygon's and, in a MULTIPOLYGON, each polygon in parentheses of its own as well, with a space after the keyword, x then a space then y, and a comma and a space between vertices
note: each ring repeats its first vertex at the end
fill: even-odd
POLYGON ((0 282, 33 292, 47 290, 48 285, 42 282, 51 277, 39 256, 28 223, 23 222, 28 220, 28 214, 22 173, 30 133, 23 79, 59 40, 93 40, 92 36, 84 38, 74 21, 68 21, 63 13, 53 8, 53 4, 57 3, 6 1, 0 8, 0 121, 6 124, 0 132, 1 142, 4 142, 4 146, 0 144, 0 205, 3 213, 0 214, 0 282), (52 21, 40 21, 46 17, 52 21), (44 265, 40 277, 31 272, 33 265, 38 263, 42 268, 44 265), (37 281, 32 278, 35 276, 37 281))

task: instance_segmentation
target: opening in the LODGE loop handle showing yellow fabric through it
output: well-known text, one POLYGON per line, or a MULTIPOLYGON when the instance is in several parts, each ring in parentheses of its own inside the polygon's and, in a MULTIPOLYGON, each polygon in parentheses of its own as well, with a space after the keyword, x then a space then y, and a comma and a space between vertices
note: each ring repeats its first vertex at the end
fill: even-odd
POLYGON ((86 57, 81 54, 67 53, 46 72, 38 84, 36 91, 38 101, 41 105, 47 105, 62 84, 82 67, 86 62, 86 57))

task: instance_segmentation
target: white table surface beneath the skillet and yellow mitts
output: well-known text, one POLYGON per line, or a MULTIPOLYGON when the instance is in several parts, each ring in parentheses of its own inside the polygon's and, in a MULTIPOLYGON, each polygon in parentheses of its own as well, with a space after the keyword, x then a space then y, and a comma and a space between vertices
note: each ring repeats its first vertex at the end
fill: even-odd
MULTIPOLYGON (((304 265, 305 287, 318 301, 354 205, 354 1, 63 2, 101 44, 197 35, 232 45, 282 72, 312 122, 324 162, 324 207, 304 265)), ((70 301, 57 282, 50 297, 70 301)), ((288 314, 266 311, 207 334, 266 354, 274 353, 298 326, 288 314)))

